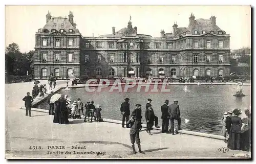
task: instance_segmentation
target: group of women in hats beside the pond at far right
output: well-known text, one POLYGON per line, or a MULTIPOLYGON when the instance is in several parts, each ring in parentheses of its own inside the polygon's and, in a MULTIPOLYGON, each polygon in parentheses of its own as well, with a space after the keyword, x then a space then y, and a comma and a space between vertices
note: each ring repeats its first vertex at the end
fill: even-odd
POLYGON ((251 113, 248 109, 245 109, 244 113, 244 119, 240 118, 242 112, 237 108, 223 115, 221 134, 231 150, 251 150, 251 113))

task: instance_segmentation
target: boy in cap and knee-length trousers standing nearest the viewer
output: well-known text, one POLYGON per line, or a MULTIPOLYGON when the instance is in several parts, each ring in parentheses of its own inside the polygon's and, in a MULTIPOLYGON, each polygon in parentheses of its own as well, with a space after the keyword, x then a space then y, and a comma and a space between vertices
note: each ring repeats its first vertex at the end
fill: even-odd
POLYGON ((132 112, 132 119, 133 121, 131 121, 131 130, 130 130, 130 138, 131 138, 131 143, 132 143, 132 148, 133 148, 133 153, 135 154, 135 146, 134 143, 136 142, 136 144, 138 145, 139 148, 139 152, 143 153, 141 151, 141 146, 140 146, 140 130, 142 128, 141 126, 141 105, 140 104, 136 104, 136 109, 134 109, 134 111, 132 112))

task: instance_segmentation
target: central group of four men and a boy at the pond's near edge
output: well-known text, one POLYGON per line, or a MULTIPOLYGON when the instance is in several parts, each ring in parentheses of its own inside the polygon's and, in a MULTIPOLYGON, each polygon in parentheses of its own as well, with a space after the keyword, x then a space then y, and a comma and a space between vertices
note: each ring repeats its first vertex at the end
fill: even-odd
MULTIPOLYGON (((154 109, 152 108, 152 100, 147 99, 146 103, 146 111, 145 111, 145 120, 146 120, 146 129, 142 129, 142 113, 141 113, 141 104, 136 104, 136 108, 132 111, 131 119, 129 119, 130 116, 130 99, 126 98, 124 99, 124 102, 121 104, 120 111, 122 114, 122 127, 124 128, 124 123, 126 120, 126 128, 130 129, 130 139, 132 143, 133 153, 136 153, 135 150, 135 142, 138 145, 138 149, 140 153, 143 153, 141 151, 140 146, 140 137, 139 133, 141 131, 146 131, 148 134, 152 135, 151 130, 153 129, 154 123, 156 128, 160 128, 158 126, 158 117, 154 113, 154 109)), ((180 108, 178 105, 178 100, 174 100, 174 103, 169 105, 169 101, 165 100, 164 104, 161 106, 162 111, 162 133, 172 133, 173 135, 178 134, 178 130, 181 130, 181 119, 180 119, 180 108), (170 131, 168 129, 170 120, 170 131), (174 130, 174 120, 178 121, 178 130, 174 130)))

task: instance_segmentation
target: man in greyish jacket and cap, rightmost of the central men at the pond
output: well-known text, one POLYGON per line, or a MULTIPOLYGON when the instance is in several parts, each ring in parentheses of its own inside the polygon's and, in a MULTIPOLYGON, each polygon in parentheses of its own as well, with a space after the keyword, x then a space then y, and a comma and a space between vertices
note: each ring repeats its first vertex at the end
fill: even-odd
POLYGON ((180 130, 180 107, 178 105, 178 100, 174 100, 174 103, 171 104, 168 108, 168 113, 170 115, 170 129, 174 135, 174 120, 178 121, 178 130, 180 130))

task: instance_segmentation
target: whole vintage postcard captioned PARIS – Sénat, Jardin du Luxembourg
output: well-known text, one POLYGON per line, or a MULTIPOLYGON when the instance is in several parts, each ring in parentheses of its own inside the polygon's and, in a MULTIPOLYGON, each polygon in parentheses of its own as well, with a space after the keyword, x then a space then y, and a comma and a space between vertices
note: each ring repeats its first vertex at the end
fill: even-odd
POLYGON ((5 16, 6 159, 251 159, 251 6, 5 16))

